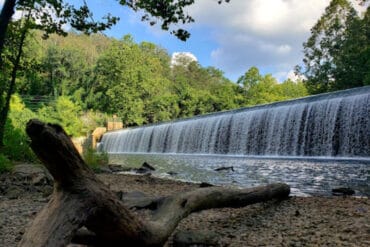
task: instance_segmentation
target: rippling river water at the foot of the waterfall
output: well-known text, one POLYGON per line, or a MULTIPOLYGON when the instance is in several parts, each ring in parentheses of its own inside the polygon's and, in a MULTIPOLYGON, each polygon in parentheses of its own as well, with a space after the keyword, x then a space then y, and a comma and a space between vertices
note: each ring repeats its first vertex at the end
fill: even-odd
POLYGON ((350 187, 370 196, 369 160, 268 159, 215 155, 110 154, 110 163, 139 167, 146 161, 155 176, 216 185, 252 187, 273 182, 291 186, 293 195, 330 195, 350 187), (214 171, 232 166, 234 171, 214 171), (175 172, 175 175, 168 175, 175 172))

